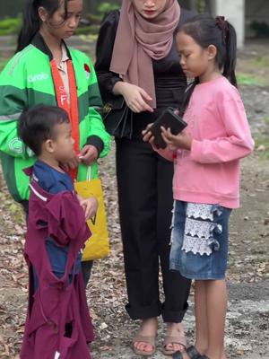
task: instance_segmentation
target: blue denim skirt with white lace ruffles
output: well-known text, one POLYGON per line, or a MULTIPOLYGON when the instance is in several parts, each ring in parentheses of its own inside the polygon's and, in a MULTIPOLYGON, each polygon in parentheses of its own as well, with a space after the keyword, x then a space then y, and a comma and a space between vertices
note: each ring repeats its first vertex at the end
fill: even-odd
POLYGON ((189 279, 223 279, 231 209, 176 200, 173 212, 170 269, 189 279))

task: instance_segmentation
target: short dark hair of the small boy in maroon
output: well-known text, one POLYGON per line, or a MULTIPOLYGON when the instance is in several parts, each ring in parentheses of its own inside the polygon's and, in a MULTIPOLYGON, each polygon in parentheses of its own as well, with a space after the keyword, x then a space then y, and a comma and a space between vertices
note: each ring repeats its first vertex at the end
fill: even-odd
POLYGON ((42 144, 48 139, 55 138, 54 127, 69 122, 65 109, 47 105, 33 106, 22 112, 18 123, 18 136, 39 156, 42 144))

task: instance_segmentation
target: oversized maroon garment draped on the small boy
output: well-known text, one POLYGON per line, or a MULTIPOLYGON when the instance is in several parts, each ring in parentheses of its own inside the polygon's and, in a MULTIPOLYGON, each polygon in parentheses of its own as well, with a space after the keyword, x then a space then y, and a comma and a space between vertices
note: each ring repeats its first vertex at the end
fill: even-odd
POLYGON ((78 251, 91 236, 82 206, 70 191, 53 195, 39 188, 35 181, 30 186, 24 248, 30 268, 30 289, 21 359, 54 359, 56 353, 61 359, 91 359, 87 343, 93 340, 93 330, 82 273, 73 276, 71 284, 68 276, 78 251), (58 245, 69 246, 65 275, 60 279, 51 271, 45 243, 48 236, 58 245), (39 277, 36 293, 33 293, 32 267, 39 277))

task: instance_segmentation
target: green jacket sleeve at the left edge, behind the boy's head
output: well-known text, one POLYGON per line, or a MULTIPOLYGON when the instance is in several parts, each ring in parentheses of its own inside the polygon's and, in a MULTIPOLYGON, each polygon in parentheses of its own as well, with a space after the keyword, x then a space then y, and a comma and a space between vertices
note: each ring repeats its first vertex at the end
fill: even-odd
POLYGON ((0 151, 13 157, 28 158, 33 153, 18 136, 18 119, 28 107, 24 71, 16 57, 0 74, 0 151))

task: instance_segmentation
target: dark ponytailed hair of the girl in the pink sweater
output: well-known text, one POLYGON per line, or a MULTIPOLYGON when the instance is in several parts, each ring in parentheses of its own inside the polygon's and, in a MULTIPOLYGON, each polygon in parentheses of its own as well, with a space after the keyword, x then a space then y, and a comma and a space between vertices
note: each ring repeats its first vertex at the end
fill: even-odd
MULTIPOLYGON (((236 54, 237 54, 237 35, 234 27, 227 22, 223 16, 213 18, 210 15, 199 14, 187 20, 182 27, 178 29, 193 38, 195 42, 202 48, 208 48, 210 45, 217 49, 216 63, 230 83, 237 86, 235 76, 236 54)), ((184 113, 195 85, 199 83, 199 79, 187 88, 186 96, 183 101, 184 113)))

